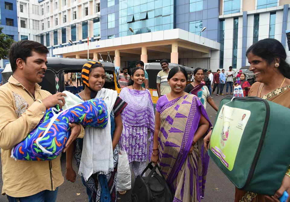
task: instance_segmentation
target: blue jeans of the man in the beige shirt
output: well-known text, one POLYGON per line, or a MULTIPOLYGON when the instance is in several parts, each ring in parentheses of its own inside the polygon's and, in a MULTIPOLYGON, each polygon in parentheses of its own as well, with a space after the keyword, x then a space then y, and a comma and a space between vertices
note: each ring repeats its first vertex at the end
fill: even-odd
POLYGON ((11 197, 7 195, 9 202, 55 202, 58 188, 55 191, 44 190, 27 197, 11 197))

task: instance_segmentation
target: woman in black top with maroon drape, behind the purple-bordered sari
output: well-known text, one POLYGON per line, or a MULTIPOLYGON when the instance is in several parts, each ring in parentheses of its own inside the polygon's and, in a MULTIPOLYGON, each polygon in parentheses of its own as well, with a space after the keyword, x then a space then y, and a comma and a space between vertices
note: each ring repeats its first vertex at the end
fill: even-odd
POLYGON ((215 111, 218 111, 218 106, 214 103, 214 100, 209 94, 208 87, 201 82, 204 78, 204 70, 200 67, 196 68, 193 72, 194 81, 187 84, 184 92, 194 94, 198 96, 201 104, 206 108, 206 103, 208 102, 215 111))

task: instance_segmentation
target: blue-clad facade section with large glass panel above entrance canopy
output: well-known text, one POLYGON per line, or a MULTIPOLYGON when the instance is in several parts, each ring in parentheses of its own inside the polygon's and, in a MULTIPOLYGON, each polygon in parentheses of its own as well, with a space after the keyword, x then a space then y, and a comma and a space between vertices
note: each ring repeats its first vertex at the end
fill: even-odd
POLYGON ((175 28, 198 33, 207 27, 202 36, 219 42, 219 12, 217 0, 115 0, 114 4, 111 0, 101 0, 101 40, 130 36, 133 34, 130 27, 134 34, 175 28))

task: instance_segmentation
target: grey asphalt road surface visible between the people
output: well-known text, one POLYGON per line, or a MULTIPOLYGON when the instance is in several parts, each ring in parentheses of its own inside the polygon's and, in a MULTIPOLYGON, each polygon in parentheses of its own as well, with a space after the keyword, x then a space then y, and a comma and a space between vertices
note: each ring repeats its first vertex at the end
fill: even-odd
MULTIPOLYGON (((225 91, 225 89, 224 89, 225 91)), ((213 93, 214 94, 214 93, 213 93)), ((221 99, 225 96, 215 96, 214 101, 216 104, 219 104, 221 99)), ((214 119, 216 116, 216 112, 211 108, 211 106, 207 105, 207 113, 212 123, 214 123, 214 119)), ((63 171, 63 176, 65 175, 65 155, 61 158, 61 166, 63 171)), ((74 165, 75 171, 77 171, 76 166, 74 165)), ((0 186, 2 187, 2 166, 0 167, 1 176, 0 176, 0 186)), ((15 173, 17 175, 17 173, 15 173)), ((127 202, 131 201, 130 199, 131 191, 127 191, 125 195, 118 194, 118 202, 127 202)), ((3 195, 0 195, 0 202, 8 201, 7 198, 3 195)), ((64 181, 63 185, 59 187, 59 193, 57 195, 57 202, 85 202, 88 201, 85 187, 82 185, 82 181, 80 176, 77 175, 76 182, 71 183, 69 181, 64 181)), ((210 160, 208 166, 208 175, 207 181, 205 185, 205 199, 203 202, 230 202, 234 201, 234 185, 228 180, 228 178, 218 169, 218 167, 210 160)))

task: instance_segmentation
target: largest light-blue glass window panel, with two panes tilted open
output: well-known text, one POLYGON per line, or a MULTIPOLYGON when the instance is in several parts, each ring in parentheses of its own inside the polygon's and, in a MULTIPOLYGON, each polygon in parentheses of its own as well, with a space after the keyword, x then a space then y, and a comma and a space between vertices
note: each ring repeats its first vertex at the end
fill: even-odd
POLYGON ((173 0, 120 0, 119 36, 175 28, 173 0))

